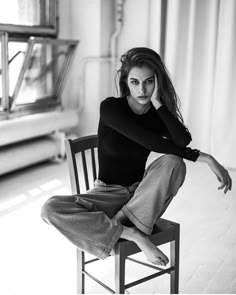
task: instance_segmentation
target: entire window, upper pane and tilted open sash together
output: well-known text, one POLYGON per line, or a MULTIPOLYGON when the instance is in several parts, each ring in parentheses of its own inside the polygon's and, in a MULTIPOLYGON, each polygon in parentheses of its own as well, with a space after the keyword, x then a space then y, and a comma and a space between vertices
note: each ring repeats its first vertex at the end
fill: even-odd
POLYGON ((0 119, 60 106, 78 42, 56 37, 55 0, 0 2, 0 119))

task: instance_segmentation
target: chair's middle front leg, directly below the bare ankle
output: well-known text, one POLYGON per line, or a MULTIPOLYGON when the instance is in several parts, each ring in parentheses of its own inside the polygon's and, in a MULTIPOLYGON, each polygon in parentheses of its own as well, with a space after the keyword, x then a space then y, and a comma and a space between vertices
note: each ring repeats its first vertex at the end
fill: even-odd
POLYGON ((120 245, 115 248, 115 292, 125 293, 125 255, 120 245))

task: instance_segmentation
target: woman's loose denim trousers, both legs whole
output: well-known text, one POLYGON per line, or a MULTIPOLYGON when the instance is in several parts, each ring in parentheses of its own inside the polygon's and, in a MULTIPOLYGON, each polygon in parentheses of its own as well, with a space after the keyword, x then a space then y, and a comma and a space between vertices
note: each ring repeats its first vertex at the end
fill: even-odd
POLYGON ((122 225, 114 224, 111 218, 122 210, 138 229, 150 235, 183 184, 185 174, 181 158, 165 155, 147 167, 140 183, 123 187, 97 179, 86 194, 48 199, 41 216, 74 245, 104 259, 123 231, 122 225))

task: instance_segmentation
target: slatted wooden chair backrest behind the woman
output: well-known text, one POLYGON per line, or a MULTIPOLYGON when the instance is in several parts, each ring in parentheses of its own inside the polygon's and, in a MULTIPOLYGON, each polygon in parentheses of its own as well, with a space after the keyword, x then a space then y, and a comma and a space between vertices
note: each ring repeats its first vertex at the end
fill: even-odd
POLYGON ((90 135, 77 139, 66 139, 65 146, 72 194, 80 194, 81 181, 84 182, 85 190, 88 190, 91 177, 93 182, 97 178, 97 153, 95 151, 98 138, 97 135, 90 135))

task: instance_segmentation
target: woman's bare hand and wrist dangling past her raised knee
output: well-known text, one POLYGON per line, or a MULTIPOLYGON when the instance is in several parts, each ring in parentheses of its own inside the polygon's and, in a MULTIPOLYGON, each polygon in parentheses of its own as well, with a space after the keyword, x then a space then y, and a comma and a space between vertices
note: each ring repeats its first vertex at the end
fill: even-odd
POLYGON ((221 183, 218 189, 224 188, 224 193, 232 189, 232 179, 228 171, 213 156, 200 152, 197 161, 207 163, 210 169, 215 173, 217 179, 221 183))

